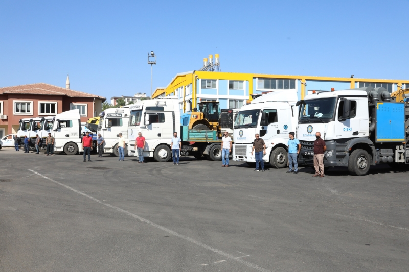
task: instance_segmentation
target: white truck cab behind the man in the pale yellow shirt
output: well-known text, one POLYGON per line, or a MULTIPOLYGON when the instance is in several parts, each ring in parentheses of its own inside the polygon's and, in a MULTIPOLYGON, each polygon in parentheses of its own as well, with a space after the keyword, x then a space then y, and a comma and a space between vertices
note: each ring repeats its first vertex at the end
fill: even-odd
POLYGON ((100 133, 104 138, 104 153, 119 157, 118 141, 119 133, 122 133, 122 137, 125 138, 124 154, 128 154, 129 107, 106 109, 99 114, 99 117, 97 136, 100 133))

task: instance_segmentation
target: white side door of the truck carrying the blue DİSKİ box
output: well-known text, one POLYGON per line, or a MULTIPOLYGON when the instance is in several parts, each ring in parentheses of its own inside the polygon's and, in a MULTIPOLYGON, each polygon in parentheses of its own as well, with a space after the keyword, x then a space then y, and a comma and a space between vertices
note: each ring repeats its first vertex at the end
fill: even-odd
MULTIPOLYGON (((354 138, 359 136, 359 106, 357 100, 351 101, 351 112, 347 119, 342 119, 344 101, 339 100, 337 110, 337 120, 335 122, 335 137, 354 138)), ((368 125, 367 125, 368 126, 368 125)))

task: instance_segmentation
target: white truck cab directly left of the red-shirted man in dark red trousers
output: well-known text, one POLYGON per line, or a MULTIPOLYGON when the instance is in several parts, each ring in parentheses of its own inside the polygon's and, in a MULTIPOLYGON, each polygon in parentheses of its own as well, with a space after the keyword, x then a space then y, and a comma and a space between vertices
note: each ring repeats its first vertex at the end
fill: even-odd
POLYGON ((55 116, 52 135, 54 151, 75 155, 81 146, 81 116, 79 109, 65 111, 55 116))

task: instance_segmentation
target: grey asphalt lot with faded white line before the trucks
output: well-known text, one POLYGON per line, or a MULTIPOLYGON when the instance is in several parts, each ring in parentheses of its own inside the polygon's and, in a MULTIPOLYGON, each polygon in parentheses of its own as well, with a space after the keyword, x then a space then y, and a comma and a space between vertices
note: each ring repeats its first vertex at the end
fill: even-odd
POLYGON ((407 172, 0 150, 1 271, 407 271, 407 172))

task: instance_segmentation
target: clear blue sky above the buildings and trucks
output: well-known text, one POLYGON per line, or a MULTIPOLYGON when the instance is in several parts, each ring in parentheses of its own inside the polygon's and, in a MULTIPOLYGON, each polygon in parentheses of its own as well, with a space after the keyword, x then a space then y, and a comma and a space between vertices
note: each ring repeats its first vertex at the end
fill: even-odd
POLYGON ((44 82, 110 98, 220 54, 225 72, 409 81, 409 1, 0 0, 0 87, 44 82))

